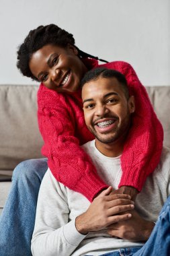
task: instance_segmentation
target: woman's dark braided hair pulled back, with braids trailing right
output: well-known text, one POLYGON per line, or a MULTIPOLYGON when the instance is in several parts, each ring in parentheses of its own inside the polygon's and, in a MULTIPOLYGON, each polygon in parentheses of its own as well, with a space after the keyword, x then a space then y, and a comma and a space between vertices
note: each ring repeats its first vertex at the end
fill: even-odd
MULTIPOLYGON (((17 68, 24 76, 31 77, 37 81, 37 78, 34 77, 30 71, 29 62, 32 55, 46 44, 54 44, 64 48, 68 44, 75 46, 75 38, 73 38, 73 34, 70 34, 66 30, 62 30, 54 24, 38 26, 35 30, 31 30, 17 51, 17 68)), ((77 46, 75 47, 77 48, 77 46)), ((98 57, 84 53, 78 48, 77 50, 79 57, 98 59, 98 57)), ((103 61, 101 59, 99 60, 103 61)))

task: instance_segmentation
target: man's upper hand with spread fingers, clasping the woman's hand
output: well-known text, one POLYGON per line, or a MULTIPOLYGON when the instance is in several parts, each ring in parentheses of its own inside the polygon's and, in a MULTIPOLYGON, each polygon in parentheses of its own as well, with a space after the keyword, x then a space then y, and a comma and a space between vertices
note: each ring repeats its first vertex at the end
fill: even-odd
POLYGON ((129 195, 110 195, 112 187, 108 187, 96 197, 87 211, 78 216, 75 226, 81 234, 97 231, 107 226, 128 220, 131 214, 127 211, 134 209, 134 202, 129 195), (126 212, 126 213, 123 213, 126 212), (121 213, 121 215, 119 215, 121 213))

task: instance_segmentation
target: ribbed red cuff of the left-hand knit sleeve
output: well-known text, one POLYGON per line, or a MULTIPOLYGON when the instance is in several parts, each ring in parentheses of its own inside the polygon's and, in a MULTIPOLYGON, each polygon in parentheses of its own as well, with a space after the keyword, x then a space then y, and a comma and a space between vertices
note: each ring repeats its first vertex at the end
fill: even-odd
POLYGON ((107 188, 108 185, 99 179, 97 172, 89 172, 86 177, 81 177, 74 190, 85 195, 85 197, 92 202, 97 193, 107 188))

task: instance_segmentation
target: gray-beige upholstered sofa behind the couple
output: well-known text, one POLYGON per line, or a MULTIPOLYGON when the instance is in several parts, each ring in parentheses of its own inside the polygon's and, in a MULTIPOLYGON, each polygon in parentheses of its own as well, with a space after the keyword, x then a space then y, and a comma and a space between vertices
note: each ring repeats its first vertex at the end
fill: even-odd
MULTIPOLYGON (((170 148, 170 86, 146 87, 170 148)), ((42 138, 36 119, 38 86, 0 85, 0 214, 13 168, 23 160, 41 158, 42 138)))

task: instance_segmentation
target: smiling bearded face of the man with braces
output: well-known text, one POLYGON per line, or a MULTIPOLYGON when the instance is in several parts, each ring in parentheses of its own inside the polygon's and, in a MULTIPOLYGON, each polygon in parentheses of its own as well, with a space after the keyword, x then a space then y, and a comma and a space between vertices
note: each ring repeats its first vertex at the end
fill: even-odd
POLYGON ((122 85, 115 77, 88 82, 82 90, 85 123, 102 143, 123 138, 134 112, 134 97, 127 100, 122 85))

